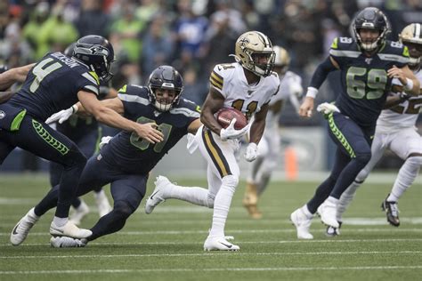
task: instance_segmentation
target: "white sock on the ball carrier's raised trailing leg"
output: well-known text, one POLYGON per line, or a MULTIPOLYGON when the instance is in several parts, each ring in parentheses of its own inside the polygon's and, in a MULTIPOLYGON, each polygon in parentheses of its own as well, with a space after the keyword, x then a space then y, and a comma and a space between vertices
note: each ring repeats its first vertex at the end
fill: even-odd
POLYGON ((168 189, 168 192, 163 194, 165 199, 174 198, 183 201, 190 202, 195 205, 201 205, 208 208, 213 207, 213 198, 208 196, 208 189, 198 188, 198 187, 181 187, 178 185, 171 185, 171 188, 168 189))

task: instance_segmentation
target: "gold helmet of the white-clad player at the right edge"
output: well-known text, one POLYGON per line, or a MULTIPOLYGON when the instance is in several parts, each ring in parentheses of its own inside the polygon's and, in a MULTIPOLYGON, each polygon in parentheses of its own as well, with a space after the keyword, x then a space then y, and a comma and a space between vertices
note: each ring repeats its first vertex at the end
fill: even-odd
MULTIPOLYGON (((402 32, 399 34, 399 40, 402 44, 418 44, 418 50, 422 50, 422 25, 420 23, 411 23, 407 27, 403 28, 402 32)), ((415 52, 410 51, 410 61, 411 66, 416 66, 420 63, 420 56, 422 51, 418 51, 417 55, 415 52)))

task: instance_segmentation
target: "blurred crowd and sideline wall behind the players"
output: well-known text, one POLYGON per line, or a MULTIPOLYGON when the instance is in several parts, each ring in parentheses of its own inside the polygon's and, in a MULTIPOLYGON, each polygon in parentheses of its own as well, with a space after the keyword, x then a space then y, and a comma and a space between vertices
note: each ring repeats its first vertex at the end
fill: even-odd
MULTIPOLYGON (((231 62, 228 55, 233 53, 237 37, 255 29, 288 50, 290 69, 302 76, 305 89, 313 69, 328 55, 332 39, 349 36, 354 13, 366 6, 385 11, 392 23, 392 40, 405 25, 422 19, 420 0, 1 1, 0 64, 13 68, 34 62, 45 52, 63 50, 80 36, 97 34, 109 38, 117 53, 111 81, 114 88, 143 84, 152 69, 171 64, 183 74, 183 95, 202 104, 210 70, 215 63, 231 62)), ((338 77, 329 76, 318 103, 334 99, 338 77)), ((286 165, 293 176, 329 170, 334 145, 321 115, 304 120, 287 104, 280 124, 284 148, 281 177, 286 165)), ((422 127, 421 122, 418 126, 422 127)), ((112 133, 103 128, 103 134, 112 133)), ((173 149, 156 171, 191 174, 195 170, 199 173, 194 174, 205 176, 205 163, 199 154, 187 156, 184 145, 182 141, 173 149)), ((377 170, 395 172, 401 164, 398 157, 387 153, 377 170)), ((45 172, 47 166, 45 161, 15 149, 0 173, 45 172)))

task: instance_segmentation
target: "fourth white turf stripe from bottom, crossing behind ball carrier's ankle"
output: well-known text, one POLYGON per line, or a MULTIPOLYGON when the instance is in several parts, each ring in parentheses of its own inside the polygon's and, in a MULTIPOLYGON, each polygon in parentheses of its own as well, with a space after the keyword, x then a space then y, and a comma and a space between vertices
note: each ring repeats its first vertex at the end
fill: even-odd
MULTIPOLYGON (((12 230, 12 229, 11 229, 12 230)), ((318 229, 314 229, 315 231, 318 231, 318 229)), ((422 229, 347 229, 347 233, 352 232, 422 232, 422 229)), ((240 233, 240 234, 246 234, 246 233, 259 233, 259 234, 265 234, 265 233, 292 233, 296 232, 296 229, 231 229, 227 231, 230 234, 233 233, 240 233)), ((185 235, 185 234, 207 234, 207 230, 156 230, 156 231, 118 231, 116 233, 113 233, 113 235, 127 235, 127 236, 143 236, 143 235, 185 235)), ((47 232, 29 232, 29 236, 45 236, 47 235, 47 232)), ((8 237, 10 236, 10 232, 0 232, 0 237, 8 237)))

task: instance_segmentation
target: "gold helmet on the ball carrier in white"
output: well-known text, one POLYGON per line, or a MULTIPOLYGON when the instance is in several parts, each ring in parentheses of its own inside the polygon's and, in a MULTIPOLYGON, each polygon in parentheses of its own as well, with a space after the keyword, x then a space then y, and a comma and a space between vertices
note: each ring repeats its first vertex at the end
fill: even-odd
POLYGON ((259 31, 248 31, 239 36, 236 41, 235 58, 243 68, 257 76, 270 76, 274 66, 275 53, 267 36, 259 31), (257 54, 266 55, 267 62, 257 63, 255 60, 257 54))

